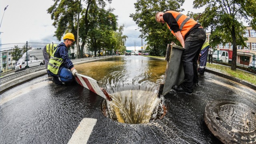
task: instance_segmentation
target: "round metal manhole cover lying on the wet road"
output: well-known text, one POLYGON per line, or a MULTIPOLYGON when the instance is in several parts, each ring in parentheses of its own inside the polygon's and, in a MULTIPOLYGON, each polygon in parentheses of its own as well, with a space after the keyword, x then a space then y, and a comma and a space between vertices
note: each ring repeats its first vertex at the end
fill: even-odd
POLYGON ((256 112, 245 104, 231 100, 209 102, 204 121, 225 144, 256 144, 256 112))

